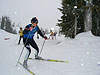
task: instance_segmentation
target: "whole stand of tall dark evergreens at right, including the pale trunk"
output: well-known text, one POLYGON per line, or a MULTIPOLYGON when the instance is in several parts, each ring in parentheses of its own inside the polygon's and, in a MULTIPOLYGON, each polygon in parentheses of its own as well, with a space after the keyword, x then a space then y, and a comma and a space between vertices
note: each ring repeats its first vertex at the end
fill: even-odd
POLYGON ((87 31, 100 36, 100 0, 62 0, 58 10, 62 16, 57 26, 65 37, 75 38, 87 31))

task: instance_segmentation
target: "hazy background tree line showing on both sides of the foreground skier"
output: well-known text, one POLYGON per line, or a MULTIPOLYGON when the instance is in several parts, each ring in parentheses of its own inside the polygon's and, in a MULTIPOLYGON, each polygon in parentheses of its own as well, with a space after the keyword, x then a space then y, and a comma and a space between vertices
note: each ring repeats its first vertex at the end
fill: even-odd
MULTIPOLYGON (((2 18, 0 18, 0 29, 3 29, 9 33, 17 34, 16 26, 20 27, 19 24, 15 25, 15 23, 12 23, 10 17, 2 16, 2 18)), ((40 30, 45 34, 50 33, 48 29, 41 28, 40 30)))

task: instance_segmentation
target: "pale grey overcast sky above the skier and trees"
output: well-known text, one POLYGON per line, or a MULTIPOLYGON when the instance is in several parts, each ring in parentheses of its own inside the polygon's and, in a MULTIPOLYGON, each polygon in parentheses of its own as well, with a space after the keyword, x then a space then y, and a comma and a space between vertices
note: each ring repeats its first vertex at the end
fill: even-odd
POLYGON ((61 0, 0 0, 0 18, 9 16, 12 22, 24 27, 35 16, 40 27, 56 28, 60 7, 61 0))

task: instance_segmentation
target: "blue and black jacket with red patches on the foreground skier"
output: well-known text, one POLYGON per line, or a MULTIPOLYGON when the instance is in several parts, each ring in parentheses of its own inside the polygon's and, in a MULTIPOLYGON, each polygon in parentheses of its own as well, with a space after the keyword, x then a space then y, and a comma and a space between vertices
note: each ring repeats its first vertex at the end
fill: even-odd
POLYGON ((38 26, 34 27, 32 26, 32 24, 29 24, 23 31, 24 38, 32 39, 36 32, 38 32, 38 34, 40 34, 40 36, 44 38, 44 35, 42 34, 38 26))

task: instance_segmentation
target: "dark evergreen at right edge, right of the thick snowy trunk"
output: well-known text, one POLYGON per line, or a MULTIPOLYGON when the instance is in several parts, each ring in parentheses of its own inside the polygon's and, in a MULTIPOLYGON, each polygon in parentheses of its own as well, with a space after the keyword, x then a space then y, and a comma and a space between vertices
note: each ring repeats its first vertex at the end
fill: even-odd
POLYGON ((100 0, 93 0, 92 33, 100 36, 100 0))

